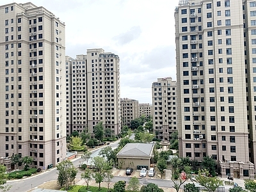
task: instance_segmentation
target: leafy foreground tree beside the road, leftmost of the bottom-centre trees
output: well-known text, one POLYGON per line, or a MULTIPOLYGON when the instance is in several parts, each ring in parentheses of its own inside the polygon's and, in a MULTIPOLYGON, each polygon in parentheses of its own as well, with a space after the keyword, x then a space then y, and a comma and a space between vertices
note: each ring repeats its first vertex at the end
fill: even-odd
POLYGON ((68 159, 57 164, 56 167, 58 170, 58 184, 61 187, 64 186, 65 190, 68 190, 68 187, 71 186, 74 180, 76 179, 76 167, 68 159))

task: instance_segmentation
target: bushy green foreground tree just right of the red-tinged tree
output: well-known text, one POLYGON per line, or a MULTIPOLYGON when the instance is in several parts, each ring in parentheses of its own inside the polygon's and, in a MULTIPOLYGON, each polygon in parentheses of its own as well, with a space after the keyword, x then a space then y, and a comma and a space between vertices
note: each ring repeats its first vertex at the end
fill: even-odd
POLYGON ((209 171, 206 169, 199 170, 198 175, 196 176, 196 180, 201 186, 204 186, 208 191, 214 192, 218 187, 223 185, 223 181, 218 179, 218 177, 208 177, 209 174, 209 171))

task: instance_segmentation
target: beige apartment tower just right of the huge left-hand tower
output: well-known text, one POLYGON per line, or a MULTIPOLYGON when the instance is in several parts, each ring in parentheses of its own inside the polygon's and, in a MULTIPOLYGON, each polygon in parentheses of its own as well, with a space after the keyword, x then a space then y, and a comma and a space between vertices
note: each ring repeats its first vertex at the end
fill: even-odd
POLYGON ((87 49, 76 59, 66 56, 67 135, 102 122, 111 135, 121 131, 120 59, 103 49, 87 49))

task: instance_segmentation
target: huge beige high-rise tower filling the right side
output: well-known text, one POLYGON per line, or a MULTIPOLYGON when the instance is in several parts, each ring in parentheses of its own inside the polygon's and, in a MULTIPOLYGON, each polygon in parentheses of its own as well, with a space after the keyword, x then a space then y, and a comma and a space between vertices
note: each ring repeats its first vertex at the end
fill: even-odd
POLYGON ((211 156, 223 177, 253 178, 255 1, 180 1, 175 29, 180 157, 211 156))

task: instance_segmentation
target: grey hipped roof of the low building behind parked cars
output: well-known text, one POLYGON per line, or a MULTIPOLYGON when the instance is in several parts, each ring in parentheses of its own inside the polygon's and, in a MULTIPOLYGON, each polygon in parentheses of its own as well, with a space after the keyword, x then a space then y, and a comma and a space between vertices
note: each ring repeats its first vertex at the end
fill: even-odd
POLYGON ((151 156, 154 143, 127 143, 117 156, 151 156))

